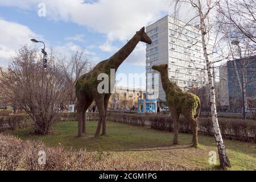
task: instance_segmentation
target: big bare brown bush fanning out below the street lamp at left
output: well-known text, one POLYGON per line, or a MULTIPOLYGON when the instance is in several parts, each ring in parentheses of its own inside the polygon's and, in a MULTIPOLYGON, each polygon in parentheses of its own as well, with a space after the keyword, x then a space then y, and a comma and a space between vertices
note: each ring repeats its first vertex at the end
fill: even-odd
POLYGON ((53 52, 48 57, 47 69, 42 68, 42 56, 38 50, 23 46, 13 57, 7 71, 1 71, 2 93, 14 97, 35 126, 35 133, 46 135, 59 119, 59 114, 67 102, 69 85, 54 63, 53 52))

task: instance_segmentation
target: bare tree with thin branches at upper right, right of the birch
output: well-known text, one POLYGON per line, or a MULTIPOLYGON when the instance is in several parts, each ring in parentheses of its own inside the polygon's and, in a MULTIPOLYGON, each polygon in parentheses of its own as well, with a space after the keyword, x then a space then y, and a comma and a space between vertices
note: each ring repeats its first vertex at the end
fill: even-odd
MULTIPOLYGON (((243 103, 247 108, 246 87, 251 84, 251 80, 247 81, 247 67, 249 66, 246 57, 255 55, 256 53, 256 2, 252 0, 221 0, 216 6, 216 19, 221 33, 225 36, 226 46, 234 65, 234 76, 238 87, 243 93, 243 103), (232 46, 232 42, 236 40, 236 46, 232 46), (243 58, 238 64, 236 58, 243 58), (238 72, 242 72, 239 74, 238 72), (241 75, 245 75, 242 77, 241 75)), ((230 59, 228 59, 230 60, 230 59)), ((236 103, 239 98, 234 97, 231 101, 236 103)), ((241 106, 241 105, 240 105, 241 106)))

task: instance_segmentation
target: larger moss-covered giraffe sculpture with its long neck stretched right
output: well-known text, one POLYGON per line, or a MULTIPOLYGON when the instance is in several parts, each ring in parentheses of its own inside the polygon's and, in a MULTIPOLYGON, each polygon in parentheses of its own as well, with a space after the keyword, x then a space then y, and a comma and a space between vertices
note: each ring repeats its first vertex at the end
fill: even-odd
POLYGON ((106 73, 109 76, 110 82, 110 69, 117 71, 118 67, 123 61, 133 52, 134 48, 139 42, 151 44, 151 39, 147 36, 145 28, 136 32, 133 38, 123 46, 117 53, 115 53, 108 60, 101 61, 96 67, 82 75, 76 82, 76 96, 77 96, 77 118, 79 121, 79 137, 85 133, 85 111, 92 104, 93 100, 96 102, 99 111, 99 121, 95 137, 100 135, 102 125, 102 135, 106 135, 106 113, 108 109, 109 93, 98 93, 97 87, 100 81, 97 77, 100 73, 106 73))

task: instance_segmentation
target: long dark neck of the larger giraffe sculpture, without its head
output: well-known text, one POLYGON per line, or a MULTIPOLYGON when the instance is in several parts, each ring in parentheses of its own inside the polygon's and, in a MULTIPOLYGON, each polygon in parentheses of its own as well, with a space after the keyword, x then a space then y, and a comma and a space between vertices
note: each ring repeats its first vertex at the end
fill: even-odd
POLYGON ((125 46, 123 46, 117 53, 115 53, 112 57, 109 59, 109 63, 112 68, 117 71, 119 66, 125 61, 125 59, 133 52, 137 44, 140 42, 141 38, 138 34, 135 34, 125 46))

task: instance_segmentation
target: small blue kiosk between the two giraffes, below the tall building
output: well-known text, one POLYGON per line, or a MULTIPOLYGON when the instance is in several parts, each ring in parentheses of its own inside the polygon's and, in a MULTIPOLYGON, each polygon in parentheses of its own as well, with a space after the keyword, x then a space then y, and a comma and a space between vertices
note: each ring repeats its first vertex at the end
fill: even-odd
POLYGON ((138 114, 156 113, 156 100, 138 100, 138 114), (144 112, 146 107, 146 112, 144 112))

